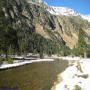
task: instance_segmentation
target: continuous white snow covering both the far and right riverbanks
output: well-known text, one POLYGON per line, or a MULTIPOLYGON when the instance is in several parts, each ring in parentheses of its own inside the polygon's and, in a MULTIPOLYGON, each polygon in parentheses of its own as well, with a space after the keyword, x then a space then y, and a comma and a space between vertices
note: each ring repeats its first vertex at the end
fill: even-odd
POLYGON ((34 62, 54 61, 54 58, 68 60, 70 62, 68 68, 59 75, 60 78, 62 77, 62 81, 55 85, 55 90, 75 90, 76 85, 81 90, 90 90, 90 59, 87 58, 52 56, 50 59, 15 60, 13 64, 4 63, 0 65, 0 69, 17 67, 34 62))

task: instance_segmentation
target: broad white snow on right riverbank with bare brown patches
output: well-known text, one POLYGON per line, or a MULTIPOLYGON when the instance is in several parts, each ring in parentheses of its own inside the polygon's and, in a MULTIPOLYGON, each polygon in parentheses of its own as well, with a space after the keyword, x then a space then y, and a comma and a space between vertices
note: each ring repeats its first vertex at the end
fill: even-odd
POLYGON ((55 85, 55 90, 90 90, 90 59, 76 60, 60 75, 62 82, 55 85), (77 89, 79 90, 79 89, 77 89))

